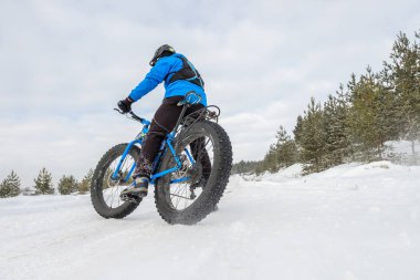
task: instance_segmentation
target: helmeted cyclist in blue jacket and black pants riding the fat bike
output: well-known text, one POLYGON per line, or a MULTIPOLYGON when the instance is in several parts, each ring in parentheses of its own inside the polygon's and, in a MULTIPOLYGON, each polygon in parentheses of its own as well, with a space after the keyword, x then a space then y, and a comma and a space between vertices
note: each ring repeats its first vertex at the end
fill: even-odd
POLYGON ((141 146, 140 157, 134 172, 134 184, 122 191, 122 196, 145 197, 153 172, 154 159, 159 152, 161 142, 167 133, 170 133, 182 111, 178 102, 183 100, 187 93, 196 92, 201 98, 199 103, 187 110, 190 114, 207 106, 207 97, 203 89, 204 82, 200 73, 191 62, 180 53, 176 53, 168 44, 159 46, 150 61, 151 70, 146 77, 125 98, 118 102, 118 107, 124 113, 132 111, 132 104, 158 84, 165 81, 165 98, 151 120, 149 132, 141 146))

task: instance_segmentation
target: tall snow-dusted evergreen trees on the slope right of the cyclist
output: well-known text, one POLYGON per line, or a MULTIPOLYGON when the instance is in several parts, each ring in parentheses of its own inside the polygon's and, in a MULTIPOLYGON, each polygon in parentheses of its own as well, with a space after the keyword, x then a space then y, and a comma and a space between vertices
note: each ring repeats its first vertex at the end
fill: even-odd
POLYGON ((351 74, 324 103, 314 97, 296 118, 293 138, 280 126, 275 143, 261 162, 240 162, 232 173, 276 172, 295 163, 304 174, 353 162, 384 159, 386 142, 411 142, 412 164, 416 141, 420 141, 420 32, 410 41, 397 35, 388 61, 374 72, 367 66, 351 74))

